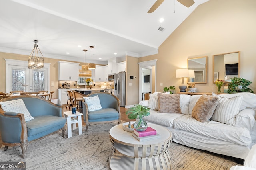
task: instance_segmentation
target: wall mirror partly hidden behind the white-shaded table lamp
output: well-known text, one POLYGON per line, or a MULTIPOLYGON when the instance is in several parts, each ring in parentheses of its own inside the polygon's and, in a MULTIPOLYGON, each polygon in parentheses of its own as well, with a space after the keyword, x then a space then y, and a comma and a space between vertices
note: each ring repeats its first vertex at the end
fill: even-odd
POLYGON ((195 78, 188 78, 188 83, 207 83, 207 56, 188 59, 188 69, 195 70, 195 78))

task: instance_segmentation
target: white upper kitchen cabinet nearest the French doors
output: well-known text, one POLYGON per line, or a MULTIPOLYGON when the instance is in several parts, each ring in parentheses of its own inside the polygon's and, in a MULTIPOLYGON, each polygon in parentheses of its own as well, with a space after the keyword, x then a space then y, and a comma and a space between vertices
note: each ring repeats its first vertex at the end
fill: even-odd
POLYGON ((58 61, 58 80, 78 81, 79 63, 58 61))

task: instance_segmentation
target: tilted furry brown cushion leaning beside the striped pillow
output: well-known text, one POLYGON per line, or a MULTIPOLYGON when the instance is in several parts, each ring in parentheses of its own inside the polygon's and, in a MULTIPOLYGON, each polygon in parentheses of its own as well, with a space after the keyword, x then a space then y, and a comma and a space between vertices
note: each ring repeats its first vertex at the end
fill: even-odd
POLYGON ((210 121, 214 110, 218 104, 218 97, 207 96, 203 94, 192 110, 192 117, 200 122, 210 121))

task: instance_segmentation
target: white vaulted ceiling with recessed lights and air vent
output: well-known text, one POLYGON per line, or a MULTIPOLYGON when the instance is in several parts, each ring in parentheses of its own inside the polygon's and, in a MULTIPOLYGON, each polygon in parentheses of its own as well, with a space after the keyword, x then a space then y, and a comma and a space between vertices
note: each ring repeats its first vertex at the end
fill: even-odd
POLYGON ((1 0, 0 51, 29 55, 36 39, 47 58, 84 62, 83 49, 88 50, 86 62, 92 57, 97 64, 126 55, 153 55, 180 23, 208 0, 194 0, 190 8, 165 0, 148 14, 155 1, 1 0), (160 23, 160 18, 164 22, 160 23), (164 31, 158 31, 160 26, 164 31), (92 52, 89 46, 95 47, 92 52))

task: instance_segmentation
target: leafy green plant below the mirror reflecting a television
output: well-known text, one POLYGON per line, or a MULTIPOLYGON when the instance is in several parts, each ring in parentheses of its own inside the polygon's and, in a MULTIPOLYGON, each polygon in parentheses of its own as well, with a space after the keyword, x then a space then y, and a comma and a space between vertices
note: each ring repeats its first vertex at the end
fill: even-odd
POLYGON ((238 92, 250 92, 253 90, 248 88, 252 82, 241 77, 231 78, 231 82, 228 83, 228 93, 238 93, 238 92))

